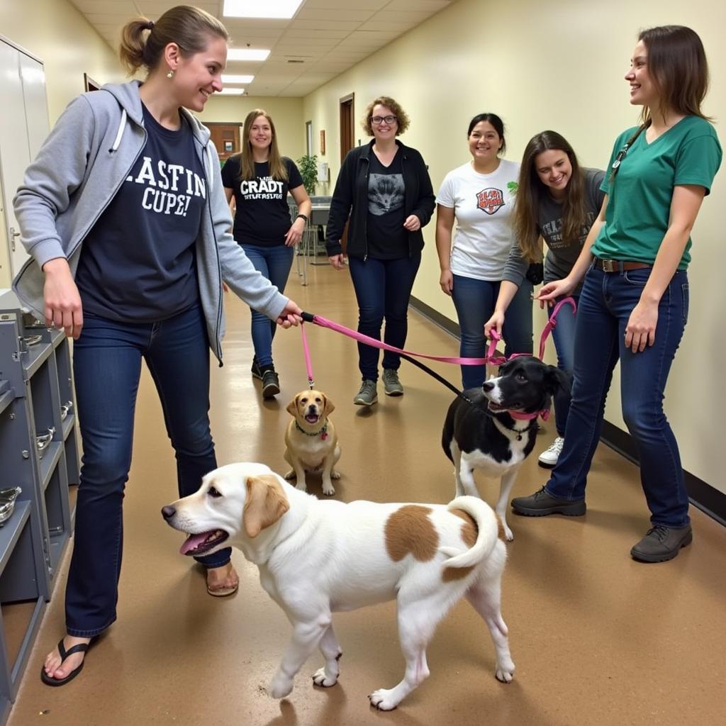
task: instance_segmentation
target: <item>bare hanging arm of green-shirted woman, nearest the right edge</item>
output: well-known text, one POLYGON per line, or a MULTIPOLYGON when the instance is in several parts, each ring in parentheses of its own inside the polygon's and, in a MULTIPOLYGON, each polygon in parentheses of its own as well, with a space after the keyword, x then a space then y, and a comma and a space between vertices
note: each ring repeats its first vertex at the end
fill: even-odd
POLYGON ((683 184, 673 189, 668 229, 658 248, 653 272, 625 328, 625 345, 633 353, 645 350, 646 345, 652 346, 656 340, 658 303, 678 269, 705 195, 705 187, 696 184, 683 184))

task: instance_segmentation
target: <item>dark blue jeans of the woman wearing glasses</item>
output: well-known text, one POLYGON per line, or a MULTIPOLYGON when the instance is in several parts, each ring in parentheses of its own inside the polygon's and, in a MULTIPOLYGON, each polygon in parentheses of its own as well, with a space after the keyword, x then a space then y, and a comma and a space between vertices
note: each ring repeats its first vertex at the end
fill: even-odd
MULTIPOLYGON (((408 303, 421 264, 421 253, 396 260, 348 258, 351 280, 358 301, 358 332, 380 340, 386 319, 383 342, 403 348, 408 334, 408 303)), ((399 370, 401 356, 383 352, 383 367, 399 370)), ((358 367, 363 380, 378 380, 378 348, 358 343, 358 367)))

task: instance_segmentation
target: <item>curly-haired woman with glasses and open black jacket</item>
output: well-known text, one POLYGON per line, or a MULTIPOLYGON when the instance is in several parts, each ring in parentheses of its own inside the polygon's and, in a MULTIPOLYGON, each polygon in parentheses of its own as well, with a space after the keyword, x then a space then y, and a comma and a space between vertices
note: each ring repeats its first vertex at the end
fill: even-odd
MULTIPOLYGON (((335 269, 343 269, 340 238, 348 216, 346 252, 358 300, 358 331, 403 348, 408 332, 408 303, 421 262, 423 234, 433 214, 434 197, 428 171, 417 150, 396 139, 409 118, 392 98, 372 101, 362 121, 372 141, 350 152, 340 166, 330 203, 327 253, 335 269)), ((378 401, 378 348, 358 345, 362 385, 353 399, 357 406, 378 401)), ((402 396, 398 369, 401 359, 383 354, 383 389, 402 396)))

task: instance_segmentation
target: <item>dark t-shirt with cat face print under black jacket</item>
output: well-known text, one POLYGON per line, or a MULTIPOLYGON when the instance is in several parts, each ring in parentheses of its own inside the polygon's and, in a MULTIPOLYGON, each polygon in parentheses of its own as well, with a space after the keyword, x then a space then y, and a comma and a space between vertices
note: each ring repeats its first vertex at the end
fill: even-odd
POLYGON ((408 256, 405 192, 401 151, 396 151, 389 166, 383 166, 372 153, 368 169, 368 256, 379 260, 408 256))

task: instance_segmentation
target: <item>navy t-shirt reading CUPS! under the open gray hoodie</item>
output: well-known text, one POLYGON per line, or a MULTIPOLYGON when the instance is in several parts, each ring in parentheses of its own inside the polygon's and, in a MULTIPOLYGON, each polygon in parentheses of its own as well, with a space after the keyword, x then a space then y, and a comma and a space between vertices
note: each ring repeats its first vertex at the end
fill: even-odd
POLYGON ((204 168, 184 116, 161 126, 144 106, 147 142, 131 174, 83 240, 76 285, 83 311, 156 322, 199 300, 195 240, 207 199, 204 168))

